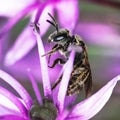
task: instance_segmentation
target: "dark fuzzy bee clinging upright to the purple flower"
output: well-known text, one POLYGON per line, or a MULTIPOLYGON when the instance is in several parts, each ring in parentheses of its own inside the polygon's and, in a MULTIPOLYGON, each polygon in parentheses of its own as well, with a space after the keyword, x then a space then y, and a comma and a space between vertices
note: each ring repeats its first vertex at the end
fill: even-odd
MULTIPOLYGON (((54 43, 52 50, 45 53, 43 56, 48 57, 48 64, 50 62, 50 57, 55 52, 60 52, 64 59, 57 58, 53 61, 50 68, 54 68, 57 64, 65 64, 70 55, 70 48, 80 48, 81 51, 75 51, 75 59, 73 63, 73 70, 70 76, 67 95, 78 94, 84 88, 86 97, 91 95, 92 92, 92 74, 91 68, 88 61, 87 48, 84 41, 77 34, 72 35, 67 29, 59 29, 58 24, 53 18, 53 16, 48 13, 51 17, 52 21, 47 20, 52 26, 55 27, 55 32, 50 34, 48 37, 48 42, 54 43)), ((52 90, 56 88, 56 86, 60 83, 62 76, 54 83, 52 86, 52 90)))

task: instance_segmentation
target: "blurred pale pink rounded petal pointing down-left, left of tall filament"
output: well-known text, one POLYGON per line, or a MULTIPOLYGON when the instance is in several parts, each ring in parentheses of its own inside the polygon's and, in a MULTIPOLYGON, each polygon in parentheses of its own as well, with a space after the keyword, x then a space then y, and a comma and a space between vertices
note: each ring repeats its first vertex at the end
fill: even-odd
POLYGON ((36 40, 34 39, 33 33, 30 27, 26 27, 13 47, 6 54, 4 64, 6 66, 13 65, 24 57, 35 45, 36 40))

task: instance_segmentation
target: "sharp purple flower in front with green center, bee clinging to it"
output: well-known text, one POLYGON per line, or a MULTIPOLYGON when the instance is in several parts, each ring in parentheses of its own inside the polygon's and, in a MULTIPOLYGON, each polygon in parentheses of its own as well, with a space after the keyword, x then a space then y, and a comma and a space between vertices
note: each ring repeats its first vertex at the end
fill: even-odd
POLYGON ((28 70, 28 73, 32 82, 33 90, 36 94, 37 102, 34 102, 29 93, 22 85, 20 85, 20 83, 17 82, 17 80, 6 72, 0 70, 0 78, 13 87, 18 94, 15 95, 6 88, 0 86, 0 119, 88 120, 95 116, 109 100, 113 88, 115 87, 117 81, 120 80, 120 76, 112 79, 91 97, 74 105, 71 109, 68 109, 68 106, 65 107, 65 97, 68 81, 73 67, 74 51, 71 52, 68 61, 62 69, 62 81, 56 96, 54 96, 51 91, 46 58, 41 57, 41 55, 44 54, 42 40, 37 31, 34 31, 34 33, 38 45, 44 98, 41 97, 37 83, 30 70, 28 70))

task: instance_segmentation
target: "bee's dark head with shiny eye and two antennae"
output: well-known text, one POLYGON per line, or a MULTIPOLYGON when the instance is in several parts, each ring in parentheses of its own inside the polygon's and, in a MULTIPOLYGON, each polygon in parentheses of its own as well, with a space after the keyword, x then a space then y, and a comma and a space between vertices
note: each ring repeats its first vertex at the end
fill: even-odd
POLYGON ((56 23, 53 16, 50 13, 48 13, 48 15, 52 18, 53 21, 47 20, 47 22, 49 22, 51 25, 53 25, 56 29, 56 31, 53 32, 52 34, 50 34, 50 36, 48 37, 48 42, 54 42, 54 43, 57 43, 57 44, 66 43, 69 40, 69 37, 70 37, 69 30, 59 29, 58 24, 56 23))

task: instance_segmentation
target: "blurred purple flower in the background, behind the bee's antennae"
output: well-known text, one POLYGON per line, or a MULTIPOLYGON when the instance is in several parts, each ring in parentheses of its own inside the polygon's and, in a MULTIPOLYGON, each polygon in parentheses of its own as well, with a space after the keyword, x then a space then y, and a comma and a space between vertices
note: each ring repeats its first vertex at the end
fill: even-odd
MULTIPOLYGON (((6 36, 6 33, 21 19, 30 16, 31 22, 38 22, 41 25, 41 36, 48 30, 50 24, 46 23, 48 12, 54 15, 57 11, 60 25, 73 30, 78 19, 78 0, 12 0, 0 3, 0 15, 10 17, 9 21, 3 26, 0 32, 0 38, 6 36), (69 6, 69 9, 66 9, 69 6), (9 9, 9 10, 8 10, 9 9), (66 9, 66 10, 65 10, 66 9), (64 21, 63 21, 64 18, 64 21)), ((35 45, 36 41, 29 29, 29 23, 18 36, 13 47, 8 51, 5 57, 5 65, 13 65, 23 58, 35 45)))

